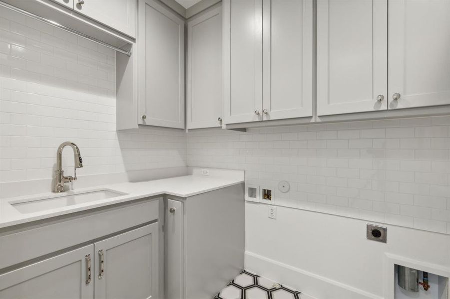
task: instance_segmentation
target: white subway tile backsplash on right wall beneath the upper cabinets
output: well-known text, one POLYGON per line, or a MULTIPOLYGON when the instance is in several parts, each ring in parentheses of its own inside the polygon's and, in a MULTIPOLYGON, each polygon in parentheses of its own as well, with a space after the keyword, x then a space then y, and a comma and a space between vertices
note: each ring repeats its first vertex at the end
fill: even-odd
POLYGON ((252 150, 231 154, 231 161, 242 155, 251 164, 225 161, 219 166, 245 169, 246 180, 254 184, 288 180, 297 189, 283 194, 283 205, 450 233, 449 130, 449 117, 248 129, 247 133, 198 130, 187 135, 187 161, 192 166, 217 165, 222 155, 218 149, 229 143, 226 136, 239 136, 252 150), (268 139, 274 132, 281 135, 268 139), (266 142, 285 141, 274 144, 277 151, 268 152, 261 149, 268 148, 259 141, 262 136, 266 142))

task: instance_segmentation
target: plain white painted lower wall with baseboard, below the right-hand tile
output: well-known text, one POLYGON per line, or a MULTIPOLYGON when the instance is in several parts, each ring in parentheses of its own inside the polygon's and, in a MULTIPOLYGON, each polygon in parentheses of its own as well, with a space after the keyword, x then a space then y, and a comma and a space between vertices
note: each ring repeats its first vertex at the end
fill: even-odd
POLYGON ((367 221, 287 207, 276 220, 267 214, 266 204, 246 204, 246 269, 315 298, 393 299, 386 254, 450 276, 450 235, 387 225, 384 244, 366 239, 367 221))

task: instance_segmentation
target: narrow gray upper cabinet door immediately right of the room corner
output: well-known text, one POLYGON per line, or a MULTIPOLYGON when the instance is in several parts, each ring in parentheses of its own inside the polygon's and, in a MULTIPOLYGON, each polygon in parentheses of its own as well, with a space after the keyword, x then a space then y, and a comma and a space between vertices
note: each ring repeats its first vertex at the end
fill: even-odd
POLYGON ((187 128, 220 127, 222 118, 222 7, 187 23, 187 128))

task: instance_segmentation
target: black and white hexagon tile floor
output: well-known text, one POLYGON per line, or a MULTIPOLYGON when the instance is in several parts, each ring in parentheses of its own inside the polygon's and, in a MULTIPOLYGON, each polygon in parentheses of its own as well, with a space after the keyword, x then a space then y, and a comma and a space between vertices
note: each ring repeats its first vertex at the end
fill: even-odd
POLYGON ((265 277, 242 271, 213 299, 301 299, 300 292, 265 277))

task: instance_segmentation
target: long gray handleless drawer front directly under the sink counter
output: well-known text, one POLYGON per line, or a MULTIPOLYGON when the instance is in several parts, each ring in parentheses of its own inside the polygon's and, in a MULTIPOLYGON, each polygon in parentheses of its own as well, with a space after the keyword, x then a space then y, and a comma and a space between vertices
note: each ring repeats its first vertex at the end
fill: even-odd
POLYGON ((0 235, 0 269, 159 218, 159 200, 105 208, 0 235))

